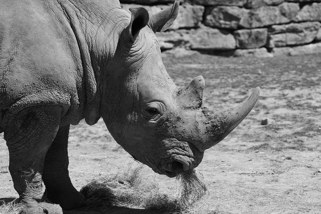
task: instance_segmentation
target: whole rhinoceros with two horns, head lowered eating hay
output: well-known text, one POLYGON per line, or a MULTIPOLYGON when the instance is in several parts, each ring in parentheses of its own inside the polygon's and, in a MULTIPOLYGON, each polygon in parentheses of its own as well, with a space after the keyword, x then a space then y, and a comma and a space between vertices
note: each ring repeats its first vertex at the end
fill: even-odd
POLYGON ((130 15, 117 0, 1 1, 0 133, 25 213, 82 205, 68 175, 70 124, 102 117, 134 159, 175 177, 251 111, 258 87, 243 103, 212 110, 202 106, 202 76, 173 83, 155 33, 169 28, 178 5, 149 16, 143 7, 130 15))

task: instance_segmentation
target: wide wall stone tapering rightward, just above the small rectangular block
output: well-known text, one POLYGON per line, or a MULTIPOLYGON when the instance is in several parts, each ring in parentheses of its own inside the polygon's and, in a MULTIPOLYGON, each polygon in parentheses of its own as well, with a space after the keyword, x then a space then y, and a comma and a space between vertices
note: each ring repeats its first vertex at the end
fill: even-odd
POLYGON ((290 19, 281 13, 280 7, 264 6, 249 10, 249 12, 241 18, 239 25, 251 29, 289 22, 290 19))

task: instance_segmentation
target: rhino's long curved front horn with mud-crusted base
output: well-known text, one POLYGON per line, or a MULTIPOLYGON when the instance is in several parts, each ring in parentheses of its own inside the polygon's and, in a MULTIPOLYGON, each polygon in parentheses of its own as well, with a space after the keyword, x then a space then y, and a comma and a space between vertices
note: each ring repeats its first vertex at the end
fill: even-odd
POLYGON ((241 104, 225 109, 202 108, 198 112, 198 131, 201 136, 200 150, 208 149, 224 139, 247 116, 260 95, 260 87, 241 104))

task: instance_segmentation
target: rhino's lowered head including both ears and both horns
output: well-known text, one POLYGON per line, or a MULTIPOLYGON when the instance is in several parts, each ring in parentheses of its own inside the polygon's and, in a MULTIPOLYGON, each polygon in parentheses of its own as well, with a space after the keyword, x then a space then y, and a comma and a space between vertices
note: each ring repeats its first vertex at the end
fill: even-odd
POLYGON ((178 2, 149 17, 143 7, 121 31, 102 85, 100 115, 134 159, 175 177, 195 168, 204 150, 225 138, 251 111, 259 87, 241 104, 226 109, 202 106, 204 78, 176 86, 162 63, 155 32, 173 23, 178 2))

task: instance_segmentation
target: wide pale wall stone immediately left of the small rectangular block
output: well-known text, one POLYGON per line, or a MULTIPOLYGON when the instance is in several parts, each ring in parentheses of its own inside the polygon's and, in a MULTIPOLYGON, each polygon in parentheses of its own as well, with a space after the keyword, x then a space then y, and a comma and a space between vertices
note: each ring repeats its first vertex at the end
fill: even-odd
POLYGON ((228 30, 201 27, 190 31, 192 50, 233 50, 236 48, 234 36, 228 30))

